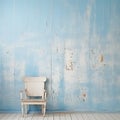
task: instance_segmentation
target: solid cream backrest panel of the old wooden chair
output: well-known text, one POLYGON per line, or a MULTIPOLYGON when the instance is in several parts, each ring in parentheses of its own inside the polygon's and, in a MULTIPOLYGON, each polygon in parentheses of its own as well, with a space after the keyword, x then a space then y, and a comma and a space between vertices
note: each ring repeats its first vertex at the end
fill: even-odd
POLYGON ((44 96, 46 77, 24 77, 27 96, 44 96))

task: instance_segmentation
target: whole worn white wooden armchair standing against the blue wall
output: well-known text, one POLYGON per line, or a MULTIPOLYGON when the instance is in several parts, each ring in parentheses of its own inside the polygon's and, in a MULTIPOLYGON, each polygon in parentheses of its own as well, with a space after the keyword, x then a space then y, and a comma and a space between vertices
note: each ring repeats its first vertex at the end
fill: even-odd
POLYGON ((46 112, 46 77, 24 77, 25 89, 20 91, 22 115, 27 113, 29 105, 41 105, 42 113, 46 112), (37 98, 36 98, 37 97, 37 98))

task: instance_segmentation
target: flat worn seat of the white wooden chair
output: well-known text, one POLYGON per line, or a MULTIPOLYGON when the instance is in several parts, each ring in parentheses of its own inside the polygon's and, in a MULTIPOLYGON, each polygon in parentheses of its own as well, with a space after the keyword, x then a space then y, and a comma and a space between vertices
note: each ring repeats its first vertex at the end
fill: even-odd
POLYGON ((46 104, 46 100, 43 99, 23 99, 21 100, 23 104, 31 104, 31 105, 42 105, 46 104))

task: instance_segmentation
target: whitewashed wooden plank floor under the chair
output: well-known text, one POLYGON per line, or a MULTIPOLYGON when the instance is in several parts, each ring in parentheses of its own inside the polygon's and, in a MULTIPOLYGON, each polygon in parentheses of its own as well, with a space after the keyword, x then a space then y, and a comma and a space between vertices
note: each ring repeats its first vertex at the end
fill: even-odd
POLYGON ((51 113, 41 114, 0 113, 0 120, 120 120, 120 113, 51 113))

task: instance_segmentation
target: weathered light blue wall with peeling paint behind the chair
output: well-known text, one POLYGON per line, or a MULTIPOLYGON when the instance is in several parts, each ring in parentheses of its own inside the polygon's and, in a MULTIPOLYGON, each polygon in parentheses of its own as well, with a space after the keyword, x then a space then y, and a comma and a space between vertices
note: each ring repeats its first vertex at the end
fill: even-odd
POLYGON ((0 0, 0 111, 23 76, 47 76, 48 111, 120 111, 119 51, 120 0, 0 0))

